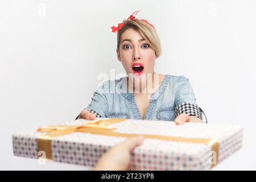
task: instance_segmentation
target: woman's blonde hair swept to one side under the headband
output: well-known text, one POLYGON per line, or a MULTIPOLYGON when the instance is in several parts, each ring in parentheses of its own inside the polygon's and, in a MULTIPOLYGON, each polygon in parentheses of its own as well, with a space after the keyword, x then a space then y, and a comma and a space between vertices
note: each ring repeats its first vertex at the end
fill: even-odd
POLYGON ((121 44, 121 35, 123 34, 123 32, 125 32, 129 28, 133 28, 135 31, 138 31, 141 34, 142 38, 147 40, 150 47, 155 50, 156 58, 161 55, 162 50, 160 40, 158 34, 153 27, 139 19, 123 20, 123 23, 124 25, 117 33, 118 50, 121 44))

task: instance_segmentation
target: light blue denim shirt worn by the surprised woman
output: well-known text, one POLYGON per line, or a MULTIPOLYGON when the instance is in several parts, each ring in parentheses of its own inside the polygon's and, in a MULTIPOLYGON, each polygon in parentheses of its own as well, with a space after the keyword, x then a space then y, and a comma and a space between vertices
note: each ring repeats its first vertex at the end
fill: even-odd
MULTIPOLYGON (((94 110, 102 118, 142 119, 134 94, 125 85, 126 77, 105 81, 94 92, 87 110, 94 110)), ((151 94, 143 119, 174 121, 175 107, 183 102, 195 104, 196 98, 188 78, 165 75, 162 84, 151 94)))

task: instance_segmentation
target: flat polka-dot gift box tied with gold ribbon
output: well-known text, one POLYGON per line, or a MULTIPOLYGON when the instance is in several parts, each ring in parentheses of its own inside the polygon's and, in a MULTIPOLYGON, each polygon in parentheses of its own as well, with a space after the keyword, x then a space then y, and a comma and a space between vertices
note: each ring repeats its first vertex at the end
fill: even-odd
POLYGON ((242 127, 121 118, 78 119, 13 135, 16 156, 93 167, 112 146, 143 135, 133 170, 208 170, 242 146, 242 127))

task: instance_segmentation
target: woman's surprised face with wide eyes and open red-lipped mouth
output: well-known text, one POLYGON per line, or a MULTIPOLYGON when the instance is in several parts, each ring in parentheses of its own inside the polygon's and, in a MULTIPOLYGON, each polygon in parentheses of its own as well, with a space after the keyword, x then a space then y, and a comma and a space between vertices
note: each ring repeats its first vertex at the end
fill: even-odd
POLYGON ((141 76, 142 73, 154 73, 155 51, 144 40, 138 31, 127 29, 121 35, 117 49, 118 60, 122 62, 127 75, 141 76))

